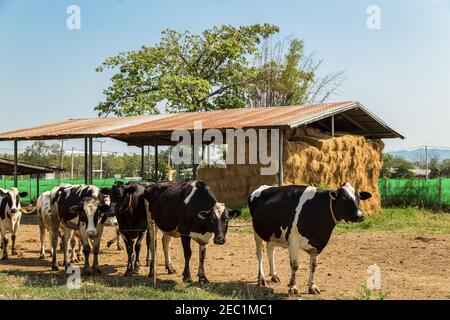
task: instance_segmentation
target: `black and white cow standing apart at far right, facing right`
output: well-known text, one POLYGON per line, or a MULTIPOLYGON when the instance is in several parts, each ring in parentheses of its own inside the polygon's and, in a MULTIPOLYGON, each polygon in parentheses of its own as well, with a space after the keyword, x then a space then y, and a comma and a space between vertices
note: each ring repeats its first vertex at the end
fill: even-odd
POLYGON ((279 282, 275 270, 276 246, 288 248, 291 266, 289 294, 297 294, 296 272, 300 249, 310 255, 308 292, 320 293, 314 280, 317 256, 331 237, 338 221, 359 222, 364 219, 359 201, 372 195, 357 192, 344 183, 337 190, 317 190, 308 186, 261 186, 253 191, 248 206, 253 220, 256 255, 259 263, 258 284, 266 285, 263 271, 263 242, 266 242, 273 282, 279 282))

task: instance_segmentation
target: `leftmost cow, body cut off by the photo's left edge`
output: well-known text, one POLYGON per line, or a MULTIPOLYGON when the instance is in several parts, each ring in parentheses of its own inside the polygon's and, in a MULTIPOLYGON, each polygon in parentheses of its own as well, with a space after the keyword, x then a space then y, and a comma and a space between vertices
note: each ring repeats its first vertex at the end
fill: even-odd
POLYGON ((8 259, 8 232, 11 235, 11 255, 16 255, 16 236, 20 226, 22 212, 20 198, 26 197, 27 192, 19 192, 17 188, 0 189, 0 232, 2 235, 2 259, 8 259))

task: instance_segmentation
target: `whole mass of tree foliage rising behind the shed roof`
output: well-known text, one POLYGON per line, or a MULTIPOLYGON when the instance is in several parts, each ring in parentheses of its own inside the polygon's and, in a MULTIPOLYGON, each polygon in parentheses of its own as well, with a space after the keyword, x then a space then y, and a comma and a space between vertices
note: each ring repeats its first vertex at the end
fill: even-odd
POLYGON ((112 84, 99 116, 206 111, 323 102, 343 73, 317 75, 322 60, 303 42, 277 41, 271 24, 214 26, 201 34, 166 29, 154 46, 122 52, 97 68, 112 84))

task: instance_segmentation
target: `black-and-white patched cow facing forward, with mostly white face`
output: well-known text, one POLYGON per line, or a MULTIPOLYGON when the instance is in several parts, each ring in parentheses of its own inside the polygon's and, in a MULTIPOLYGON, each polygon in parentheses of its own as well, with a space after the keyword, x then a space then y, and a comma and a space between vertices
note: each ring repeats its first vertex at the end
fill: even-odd
MULTIPOLYGON (((111 202, 111 189, 99 189, 93 185, 75 185, 59 187, 51 193, 52 216, 52 247, 56 252, 58 244, 58 229, 64 225, 64 265, 70 264, 68 259, 68 241, 74 231, 79 232, 83 243, 84 272, 91 273, 89 254, 91 246, 89 238, 93 240, 94 261, 92 271, 99 274, 98 253, 103 225, 109 216, 113 215, 115 204, 111 202)), ((52 256, 52 270, 58 270, 56 254, 52 256)))

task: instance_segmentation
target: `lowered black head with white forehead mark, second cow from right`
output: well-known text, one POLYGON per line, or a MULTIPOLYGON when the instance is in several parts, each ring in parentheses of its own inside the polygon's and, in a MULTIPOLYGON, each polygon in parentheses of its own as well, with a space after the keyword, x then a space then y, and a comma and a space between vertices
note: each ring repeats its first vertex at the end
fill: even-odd
POLYGON ((228 230, 230 218, 238 217, 241 214, 238 210, 229 210, 225 204, 216 202, 214 207, 208 211, 200 211, 197 218, 207 232, 214 233, 214 243, 224 244, 228 230))

